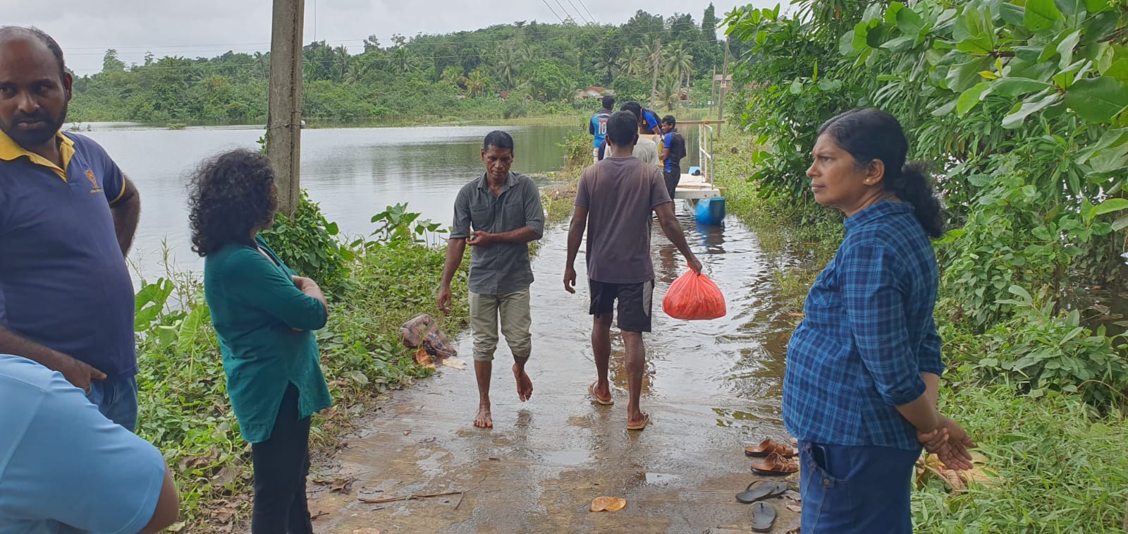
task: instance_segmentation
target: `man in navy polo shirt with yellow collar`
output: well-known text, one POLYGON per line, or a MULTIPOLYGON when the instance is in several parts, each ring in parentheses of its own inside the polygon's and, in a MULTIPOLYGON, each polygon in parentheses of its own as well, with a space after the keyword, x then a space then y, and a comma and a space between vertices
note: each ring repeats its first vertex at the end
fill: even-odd
POLYGON ((53 38, 0 28, 0 353, 58 370, 133 430, 141 201, 102 147, 60 131, 71 84, 53 38))

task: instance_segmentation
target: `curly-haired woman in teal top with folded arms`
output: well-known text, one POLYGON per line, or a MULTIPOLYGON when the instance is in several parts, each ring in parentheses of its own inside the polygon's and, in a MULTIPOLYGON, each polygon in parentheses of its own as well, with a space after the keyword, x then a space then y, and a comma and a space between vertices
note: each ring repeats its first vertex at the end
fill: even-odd
POLYGON ((236 150, 206 161, 188 203, 192 251, 204 257, 204 297, 228 396, 252 448, 252 532, 312 533, 306 504, 309 419, 333 404, 312 332, 325 326, 325 296, 258 235, 277 212, 277 185, 265 156, 236 150))

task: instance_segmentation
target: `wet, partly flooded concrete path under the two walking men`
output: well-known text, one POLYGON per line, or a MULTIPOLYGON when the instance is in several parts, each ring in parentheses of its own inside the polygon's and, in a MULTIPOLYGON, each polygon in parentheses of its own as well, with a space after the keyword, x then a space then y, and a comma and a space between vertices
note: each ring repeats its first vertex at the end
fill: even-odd
MULTIPOLYGON (((442 533, 721 533, 751 532, 750 505, 734 494, 758 476, 742 447, 786 438, 779 421, 784 341, 791 323, 776 308, 772 269, 754 234, 731 217, 698 226, 681 208, 687 238, 724 292, 729 314, 707 322, 670 318, 661 296, 685 262, 656 229, 653 236, 654 329, 645 336, 642 408, 651 424, 626 430, 622 339, 613 330, 614 406, 587 395, 594 379, 583 257, 576 295, 564 291, 566 225, 552 228, 534 262, 535 385, 518 400, 511 354, 499 347, 492 430, 473 427, 477 408, 468 332, 459 338, 466 370, 394 392, 316 476, 355 479, 347 491, 310 484, 319 533, 360 528, 442 533), (462 491, 437 498, 368 504, 462 491), (589 511, 600 496, 620 497, 616 513, 589 511)), ((791 479, 793 484, 797 479, 791 479)), ((788 500, 773 532, 797 526, 788 500)))

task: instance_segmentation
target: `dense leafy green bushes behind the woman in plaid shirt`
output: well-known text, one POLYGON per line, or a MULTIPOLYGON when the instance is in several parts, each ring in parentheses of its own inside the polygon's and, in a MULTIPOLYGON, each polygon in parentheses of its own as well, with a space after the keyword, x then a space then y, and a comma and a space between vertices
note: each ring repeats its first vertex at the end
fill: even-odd
POLYGON ((1107 329, 1120 325, 1086 294, 1111 288, 1114 306, 1125 291, 1128 0, 793 8, 728 19, 749 46, 737 67, 748 105, 734 113, 763 145, 760 196, 812 205, 804 170, 818 125, 855 106, 893 113, 910 157, 937 172, 955 228, 938 244, 937 322, 962 349, 957 364, 1036 396, 1121 399, 1123 339, 1107 329), (1083 321, 1093 316, 1105 324, 1083 321))

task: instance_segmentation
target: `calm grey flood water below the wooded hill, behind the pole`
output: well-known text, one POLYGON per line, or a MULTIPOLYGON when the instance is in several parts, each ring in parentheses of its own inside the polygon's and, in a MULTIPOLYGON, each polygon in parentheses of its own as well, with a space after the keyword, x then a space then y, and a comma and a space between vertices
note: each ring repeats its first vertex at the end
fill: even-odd
MULTIPOLYGON (((87 124, 82 125, 83 129, 87 124)), ((141 222, 130 260, 146 279, 164 275, 162 242, 176 266, 197 271, 202 260, 188 240, 187 183, 204 159, 236 148, 258 149, 259 126, 166 130, 134 124, 91 124, 81 133, 98 141, 141 193, 141 222)), ((301 133, 301 185, 341 231, 368 235, 371 217, 388 205, 450 224, 458 189, 483 170, 482 139, 509 131, 515 143, 513 170, 558 170, 557 146, 567 126, 434 126, 308 129, 301 133)))

